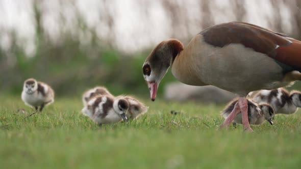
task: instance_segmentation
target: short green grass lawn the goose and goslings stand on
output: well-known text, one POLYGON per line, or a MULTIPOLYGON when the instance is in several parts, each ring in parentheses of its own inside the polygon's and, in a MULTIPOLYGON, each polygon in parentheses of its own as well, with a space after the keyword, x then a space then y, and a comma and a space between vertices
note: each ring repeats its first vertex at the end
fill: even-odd
POLYGON ((81 98, 58 98, 41 114, 0 97, 1 168, 300 168, 301 114, 275 124, 218 130, 223 105, 146 101, 136 121, 98 127, 81 98), (170 110, 181 111, 171 115, 170 110), (8 126, 5 126, 8 125, 8 126))

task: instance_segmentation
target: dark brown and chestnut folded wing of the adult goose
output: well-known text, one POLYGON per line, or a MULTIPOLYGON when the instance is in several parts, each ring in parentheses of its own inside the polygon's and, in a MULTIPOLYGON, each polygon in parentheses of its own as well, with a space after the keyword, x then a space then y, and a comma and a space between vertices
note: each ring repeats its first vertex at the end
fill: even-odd
POLYGON ((199 34, 203 35, 205 42, 213 46, 242 44, 266 54, 286 69, 301 69, 301 42, 263 27, 244 22, 229 22, 208 27, 199 34))

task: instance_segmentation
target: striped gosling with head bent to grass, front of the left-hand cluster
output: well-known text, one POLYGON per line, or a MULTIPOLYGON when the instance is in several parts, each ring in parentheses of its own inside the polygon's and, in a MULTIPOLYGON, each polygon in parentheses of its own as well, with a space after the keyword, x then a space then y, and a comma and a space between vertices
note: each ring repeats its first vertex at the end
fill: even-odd
POLYGON ((95 96, 82 109, 82 114, 88 116, 99 126, 108 123, 126 121, 129 102, 123 98, 111 96, 95 96))

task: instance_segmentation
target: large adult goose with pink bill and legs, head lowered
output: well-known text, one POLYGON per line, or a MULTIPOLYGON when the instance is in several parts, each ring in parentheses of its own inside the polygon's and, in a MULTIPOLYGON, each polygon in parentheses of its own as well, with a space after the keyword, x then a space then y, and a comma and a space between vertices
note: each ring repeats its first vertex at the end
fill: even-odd
POLYGON ((177 39, 163 41, 143 64, 153 101, 169 67, 175 78, 187 85, 213 85, 238 94, 238 102, 221 127, 229 126, 241 111, 244 130, 253 131, 248 123, 247 94, 300 80, 301 42, 244 22, 208 27, 185 48, 177 39))

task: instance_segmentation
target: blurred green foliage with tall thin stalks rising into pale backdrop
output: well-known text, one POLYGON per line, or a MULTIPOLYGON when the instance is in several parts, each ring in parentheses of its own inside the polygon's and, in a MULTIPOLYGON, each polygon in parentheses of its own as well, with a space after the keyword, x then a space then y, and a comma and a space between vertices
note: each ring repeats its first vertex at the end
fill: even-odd
MULTIPOLYGON (((0 49, 0 93, 20 95, 23 81, 33 77, 51 85, 56 96, 75 96, 94 86, 105 86, 112 94, 133 94, 148 97, 149 92, 142 76, 142 65, 150 50, 126 54, 99 39, 95 30, 86 26, 77 12, 78 22, 72 30, 64 30, 56 41, 43 30, 43 17, 39 3, 34 5, 35 45, 33 56, 28 57, 24 43, 13 30, 9 34, 11 47, 0 49), (75 34, 74 34, 75 33, 75 34), (91 35, 84 43, 80 35, 91 35)), ((4 33, 0 29, 1 34, 4 33)), ((162 93, 164 83, 174 80, 170 72, 159 88, 162 93)))

